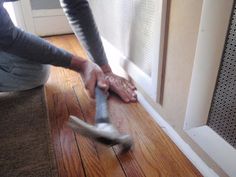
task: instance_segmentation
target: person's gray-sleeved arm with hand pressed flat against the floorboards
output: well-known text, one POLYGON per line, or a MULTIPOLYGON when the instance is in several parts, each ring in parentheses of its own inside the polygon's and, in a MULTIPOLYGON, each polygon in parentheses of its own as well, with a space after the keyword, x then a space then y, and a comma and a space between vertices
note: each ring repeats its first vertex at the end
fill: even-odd
POLYGON ((128 80, 115 75, 107 57, 87 0, 60 0, 67 19, 89 59, 97 63, 105 74, 110 90, 117 93, 125 102, 136 101, 135 86, 128 80))

